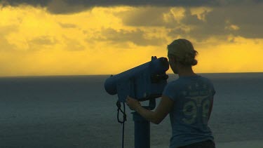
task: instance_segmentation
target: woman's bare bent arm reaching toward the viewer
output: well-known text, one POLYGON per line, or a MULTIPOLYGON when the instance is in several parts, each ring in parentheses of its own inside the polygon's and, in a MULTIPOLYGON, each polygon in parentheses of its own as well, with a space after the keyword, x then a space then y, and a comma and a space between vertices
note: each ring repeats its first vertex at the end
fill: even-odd
POLYGON ((155 111, 151 111, 148 109, 144 109, 140 102, 135 100, 132 97, 127 97, 126 104, 130 107, 130 109, 138 112, 144 119, 147 121, 151 121, 152 123, 159 124, 163 119, 167 116, 167 114, 173 109, 174 101, 170 99, 170 97, 162 96, 161 102, 155 111))

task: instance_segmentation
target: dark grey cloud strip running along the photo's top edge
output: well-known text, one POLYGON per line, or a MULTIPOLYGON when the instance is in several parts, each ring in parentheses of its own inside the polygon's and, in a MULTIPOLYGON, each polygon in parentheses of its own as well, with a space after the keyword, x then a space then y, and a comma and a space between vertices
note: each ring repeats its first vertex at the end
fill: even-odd
MULTIPOLYGON (((3 6, 27 4, 46 7, 51 13, 76 13, 94 6, 222 6, 247 3, 250 0, 0 0, 3 6)), ((263 0, 249 3, 261 4, 263 0)))

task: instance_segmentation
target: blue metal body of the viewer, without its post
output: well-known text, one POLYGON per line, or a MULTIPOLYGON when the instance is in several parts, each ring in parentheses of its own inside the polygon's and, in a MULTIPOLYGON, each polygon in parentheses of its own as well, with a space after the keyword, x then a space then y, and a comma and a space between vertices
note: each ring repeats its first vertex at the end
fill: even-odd
POLYGON ((129 95, 139 101, 161 97, 167 84, 169 69, 167 58, 151 57, 150 62, 110 76, 104 82, 104 88, 110 95, 118 94, 120 102, 126 102, 129 95))

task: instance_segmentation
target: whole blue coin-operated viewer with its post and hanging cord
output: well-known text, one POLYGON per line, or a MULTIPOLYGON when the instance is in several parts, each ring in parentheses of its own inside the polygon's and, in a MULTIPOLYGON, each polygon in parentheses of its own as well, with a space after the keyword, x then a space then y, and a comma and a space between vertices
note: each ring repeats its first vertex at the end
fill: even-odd
MULTIPOLYGON (((139 101, 149 100, 149 106, 145 109, 154 109, 156 106, 155 98, 161 97, 163 89, 167 84, 169 69, 167 58, 151 57, 150 62, 129 69, 126 72, 109 77, 104 82, 104 88, 110 95, 118 94, 118 121, 120 102, 126 102, 126 97, 135 98, 139 101)), ((126 121, 125 105, 123 112, 123 121, 126 121)), ((135 148, 150 148, 150 123, 137 112, 133 112, 133 121, 135 123, 135 148)), ((123 124, 124 129, 124 124, 123 124)), ((123 144, 123 143, 122 143, 123 144)))

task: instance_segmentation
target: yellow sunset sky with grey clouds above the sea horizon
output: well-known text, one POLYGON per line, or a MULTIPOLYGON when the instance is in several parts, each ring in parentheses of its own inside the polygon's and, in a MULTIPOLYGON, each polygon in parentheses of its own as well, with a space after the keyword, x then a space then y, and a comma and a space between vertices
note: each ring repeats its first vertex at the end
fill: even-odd
POLYGON ((262 13, 262 0, 0 0, 0 76, 119 74, 180 38, 196 73, 263 72, 262 13))

